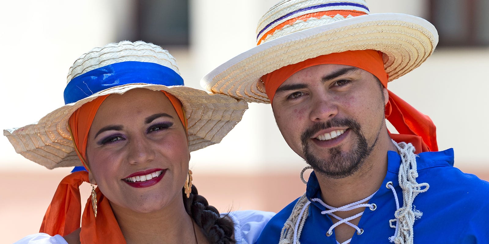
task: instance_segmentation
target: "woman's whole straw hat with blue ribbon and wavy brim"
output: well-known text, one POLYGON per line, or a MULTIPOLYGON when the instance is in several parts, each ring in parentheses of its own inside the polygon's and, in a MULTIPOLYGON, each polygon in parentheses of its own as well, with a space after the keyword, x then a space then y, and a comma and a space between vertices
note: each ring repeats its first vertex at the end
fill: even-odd
POLYGON ((3 131, 17 153, 46 168, 79 166, 68 119, 83 104, 134 88, 164 90, 183 104, 188 120, 189 150, 221 142, 238 123, 247 103, 228 96, 183 86, 175 59, 161 47, 143 41, 122 41, 94 48, 69 69, 66 105, 38 123, 3 131))

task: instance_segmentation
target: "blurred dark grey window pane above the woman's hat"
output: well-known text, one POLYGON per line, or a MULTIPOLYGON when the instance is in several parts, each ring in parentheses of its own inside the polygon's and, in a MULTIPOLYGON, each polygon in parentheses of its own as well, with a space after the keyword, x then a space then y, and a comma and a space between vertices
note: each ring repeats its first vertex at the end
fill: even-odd
POLYGON ((136 0, 137 40, 157 45, 189 44, 188 0, 136 0))

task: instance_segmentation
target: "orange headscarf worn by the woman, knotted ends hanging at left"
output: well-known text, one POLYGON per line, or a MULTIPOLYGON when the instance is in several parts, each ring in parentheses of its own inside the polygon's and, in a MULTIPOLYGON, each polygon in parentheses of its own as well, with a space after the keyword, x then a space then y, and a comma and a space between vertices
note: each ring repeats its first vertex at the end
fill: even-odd
MULTIPOLYGON (((175 107, 178 118, 186 129, 187 120, 185 119, 181 102, 172 94, 165 91, 162 92, 175 107)), ((83 166, 87 170, 86 149, 90 126, 98 108, 108 96, 101 96, 83 104, 69 118, 69 126, 78 157, 80 157, 83 166)), ((61 181, 54 193, 53 200, 46 210, 40 232, 51 236, 66 236, 80 227, 81 220, 81 243, 126 243, 112 212, 111 204, 98 187, 95 188, 97 193, 97 217, 95 218, 90 198, 85 205, 83 216, 80 216, 81 197, 78 187, 83 182, 89 182, 87 171, 71 173, 61 181)))

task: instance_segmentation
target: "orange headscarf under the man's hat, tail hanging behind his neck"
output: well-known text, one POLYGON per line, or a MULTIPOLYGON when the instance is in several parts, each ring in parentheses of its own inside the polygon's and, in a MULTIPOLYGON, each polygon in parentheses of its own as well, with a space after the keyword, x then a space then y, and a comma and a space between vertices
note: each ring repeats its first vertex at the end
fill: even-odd
MULTIPOLYGON (((384 70, 381 52, 376 50, 346 51, 290 64, 264 75, 262 81, 270 102, 273 101, 275 91, 294 73, 307 67, 326 63, 349 65, 366 70, 376 76, 382 86, 387 88, 389 78, 384 70)), ((389 102, 385 107, 385 118, 400 133, 389 133, 391 138, 398 142, 411 142, 416 148, 416 153, 438 151, 436 126, 431 119, 391 91, 388 90, 388 93, 389 102)))

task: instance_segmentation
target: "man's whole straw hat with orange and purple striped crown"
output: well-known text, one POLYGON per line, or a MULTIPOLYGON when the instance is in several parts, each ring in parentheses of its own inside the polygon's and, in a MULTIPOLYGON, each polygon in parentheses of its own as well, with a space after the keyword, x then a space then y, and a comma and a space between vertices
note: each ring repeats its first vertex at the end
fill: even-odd
POLYGON ((282 0, 259 21, 257 46, 223 63, 202 87, 247 102, 270 102, 260 78, 289 64, 349 50, 383 53, 389 81, 421 65, 438 33, 422 18, 369 14, 365 0, 282 0))

